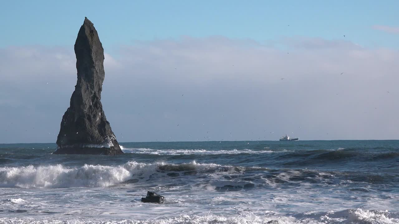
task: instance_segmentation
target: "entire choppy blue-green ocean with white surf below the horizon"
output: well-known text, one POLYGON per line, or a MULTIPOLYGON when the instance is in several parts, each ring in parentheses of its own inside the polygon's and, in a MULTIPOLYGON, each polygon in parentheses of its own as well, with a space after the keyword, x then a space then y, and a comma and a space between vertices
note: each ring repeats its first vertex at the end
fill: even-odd
POLYGON ((0 223, 399 223, 399 140, 120 145, 0 144, 0 223), (147 191, 166 203, 140 202, 147 191))

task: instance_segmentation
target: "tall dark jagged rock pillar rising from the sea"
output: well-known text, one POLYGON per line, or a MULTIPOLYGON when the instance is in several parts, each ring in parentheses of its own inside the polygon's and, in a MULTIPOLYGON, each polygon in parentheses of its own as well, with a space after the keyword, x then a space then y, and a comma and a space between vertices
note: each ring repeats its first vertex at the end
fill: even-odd
POLYGON ((122 154, 101 104, 104 49, 87 18, 75 42, 77 83, 61 121, 54 154, 122 154))

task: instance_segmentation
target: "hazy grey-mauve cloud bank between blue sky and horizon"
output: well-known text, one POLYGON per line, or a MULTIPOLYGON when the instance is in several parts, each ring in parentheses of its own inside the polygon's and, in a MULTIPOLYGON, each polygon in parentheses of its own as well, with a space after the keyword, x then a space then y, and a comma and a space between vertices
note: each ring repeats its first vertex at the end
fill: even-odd
MULTIPOLYGON (((184 36, 113 52, 105 54, 102 102, 121 142, 399 134, 396 50, 303 37, 262 45, 184 36)), ((73 46, 0 49, 0 143, 55 142, 75 60, 73 46)))

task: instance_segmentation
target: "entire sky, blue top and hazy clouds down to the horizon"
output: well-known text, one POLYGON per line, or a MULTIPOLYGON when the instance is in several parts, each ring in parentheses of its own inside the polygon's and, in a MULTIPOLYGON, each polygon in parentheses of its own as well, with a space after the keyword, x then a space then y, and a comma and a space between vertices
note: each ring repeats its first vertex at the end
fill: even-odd
POLYGON ((7 1, 0 143, 55 142, 85 16, 120 142, 397 139, 397 1, 7 1))

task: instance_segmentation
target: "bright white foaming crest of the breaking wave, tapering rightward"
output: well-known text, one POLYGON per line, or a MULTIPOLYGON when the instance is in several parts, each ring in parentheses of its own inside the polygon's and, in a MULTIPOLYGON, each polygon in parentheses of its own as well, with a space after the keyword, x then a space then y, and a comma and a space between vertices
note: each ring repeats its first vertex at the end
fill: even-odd
POLYGON ((237 172, 238 168, 217 164, 201 164, 195 161, 188 164, 137 163, 129 161, 124 165, 83 165, 70 168, 62 165, 34 167, 0 167, 0 187, 19 188, 67 188, 67 187, 106 187, 137 178, 151 181, 159 173, 165 177, 195 175, 196 172, 217 173, 237 172))

